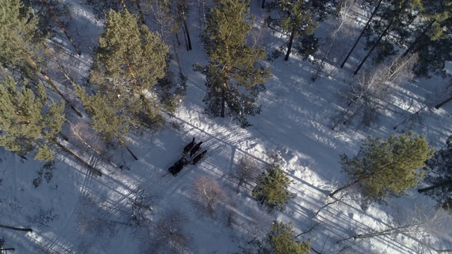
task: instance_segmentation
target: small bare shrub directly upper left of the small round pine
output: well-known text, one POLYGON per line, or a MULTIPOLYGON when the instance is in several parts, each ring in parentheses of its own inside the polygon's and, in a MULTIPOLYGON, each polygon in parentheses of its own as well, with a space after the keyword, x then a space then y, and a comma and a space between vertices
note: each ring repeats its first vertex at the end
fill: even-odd
POLYGON ((237 193, 239 193, 243 185, 247 186, 256 182, 258 176, 258 164, 249 155, 240 158, 234 171, 231 173, 231 177, 237 180, 237 193))

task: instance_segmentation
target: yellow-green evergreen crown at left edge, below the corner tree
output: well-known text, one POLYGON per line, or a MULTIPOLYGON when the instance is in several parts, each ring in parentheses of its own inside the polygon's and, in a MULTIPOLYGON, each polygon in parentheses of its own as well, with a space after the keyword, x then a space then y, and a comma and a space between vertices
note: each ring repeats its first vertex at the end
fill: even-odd
POLYGON ((44 85, 33 92, 8 75, 0 81, 0 145, 20 155, 37 149, 35 159, 50 161, 49 147, 64 123, 64 104, 52 102, 48 107, 44 85))

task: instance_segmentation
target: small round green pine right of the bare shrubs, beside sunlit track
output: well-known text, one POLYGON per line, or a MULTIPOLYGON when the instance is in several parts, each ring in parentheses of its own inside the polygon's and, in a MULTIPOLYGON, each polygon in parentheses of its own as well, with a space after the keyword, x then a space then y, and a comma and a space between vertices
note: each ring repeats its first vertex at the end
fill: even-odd
POLYGON ((292 180, 285 175, 279 165, 270 167, 258 177, 258 184, 253 189, 253 197, 261 205, 268 207, 268 212, 283 211, 285 203, 293 198, 287 188, 292 180))

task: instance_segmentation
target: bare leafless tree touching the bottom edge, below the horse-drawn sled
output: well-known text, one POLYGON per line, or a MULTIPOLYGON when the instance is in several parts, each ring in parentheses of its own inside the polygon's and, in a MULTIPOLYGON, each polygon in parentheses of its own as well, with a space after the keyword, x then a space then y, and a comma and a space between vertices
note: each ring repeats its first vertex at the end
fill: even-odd
POLYGON ((182 212, 172 211, 155 223, 153 235, 150 236, 151 253, 187 253, 190 238, 182 229, 186 219, 182 212))

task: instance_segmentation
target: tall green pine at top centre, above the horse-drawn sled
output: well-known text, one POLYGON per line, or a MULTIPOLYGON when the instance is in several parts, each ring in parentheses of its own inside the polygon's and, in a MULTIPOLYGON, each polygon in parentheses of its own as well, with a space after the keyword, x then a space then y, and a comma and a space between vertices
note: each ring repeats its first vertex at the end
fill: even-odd
POLYGON ((215 1, 216 8, 210 11, 204 47, 210 62, 207 66, 196 65, 196 70, 206 75, 206 114, 210 117, 225 117, 228 114, 242 126, 249 126, 246 116, 261 112, 256 105, 263 83, 270 72, 257 66, 266 52, 260 47, 246 46, 246 35, 252 28, 253 18, 247 7, 249 1, 215 1))

